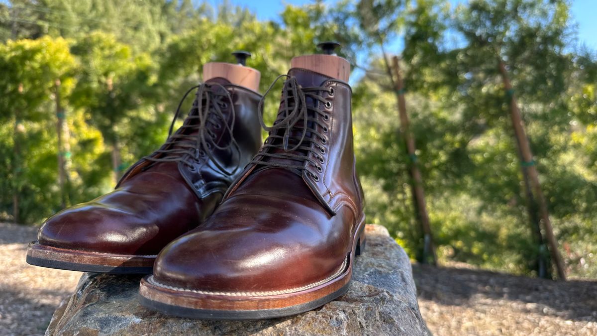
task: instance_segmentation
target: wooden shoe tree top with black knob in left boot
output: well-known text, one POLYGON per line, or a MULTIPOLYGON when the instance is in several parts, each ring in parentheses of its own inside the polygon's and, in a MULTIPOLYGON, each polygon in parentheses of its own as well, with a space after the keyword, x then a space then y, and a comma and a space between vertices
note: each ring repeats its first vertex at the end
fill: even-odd
POLYGON ((236 57, 237 64, 223 62, 205 63, 203 66, 203 81, 221 77, 226 78, 232 84, 258 91, 261 73, 247 66, 247 58, 251 57, 251 53, 239 50, 232 54, 236 57))

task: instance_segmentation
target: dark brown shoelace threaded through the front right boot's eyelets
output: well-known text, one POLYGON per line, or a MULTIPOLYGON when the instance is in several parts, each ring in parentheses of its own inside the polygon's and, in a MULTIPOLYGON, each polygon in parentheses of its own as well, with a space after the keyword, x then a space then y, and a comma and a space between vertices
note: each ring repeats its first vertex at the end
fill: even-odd
POLYGON ((315 181, 319 181, 318 174, 312 172, 309 166, 319 173, 323 171, 323 145, 328 141, 325 135, 328 129, 321 120, 329 120, 330 115, 320 107, 328 103, 321 94, 333 94, 332 90, 327 87, 301 87, 294 76, 278 76, 259 102, 259 121, 269 135, 252 163, 261 167, 281 167, 299 172, 305 170, 315 181), (287 78, 282 88, 281 106, 276 121, 272 126, 267 126, 263 121, 263 102, 280 78, 287 78), (307 98, 312 99, 313 104, 307 105, 307 98), (291 162, 287 163, 287 160, 291 162))

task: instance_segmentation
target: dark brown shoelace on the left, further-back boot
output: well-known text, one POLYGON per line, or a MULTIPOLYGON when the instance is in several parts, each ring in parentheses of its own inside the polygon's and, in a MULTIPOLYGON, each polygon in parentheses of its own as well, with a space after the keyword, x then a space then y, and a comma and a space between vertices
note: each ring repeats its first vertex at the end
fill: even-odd
MULTIPOLYGON (((195 163, 200 158, 207 157, 218 170, 227 176, 231 176, 239 167, 235 167, 232 172, 227 171, 214 158, 213 151, 234 147, 238 157, 240 157, 241 149, 233 136, 235 118, 236 114, 232 97, 230 97, 229 91, 223 85, 203 83, 189 88, 184 93, 176 109, 176 114, 174 114, 174 118, 170 124, 170 130, 168 130, 168 139, 164 143, 163 149, 156 151, 158 157, 147 156, 144 159, 153 161, 154 163, 179 161, 186 164, 190 169, 195 169, 195 163), (180 108, 186 97, 195 88, 197 89, 197 93, 193 107, 184 120, 183 125, 173 133, 174 124, 179 118, 180 108), (221 90, 218 90, 218 88, 221 90), (227 101, 223 101, 224 99, 227 101), (232 119, 230 120, 230 124, 226 122, 226 116, 222 111, 222 109, 226 109, 228 106, 230 106, 232 119), (225 145, 218 145, 216 142, 217 135, 213 131, 213 129, 219 130, 221 127, 224 127, 224 131, 230 135, 230 142, 225 145)), ((146 169, 148 168, 149 166, 146 167, 146 169)))

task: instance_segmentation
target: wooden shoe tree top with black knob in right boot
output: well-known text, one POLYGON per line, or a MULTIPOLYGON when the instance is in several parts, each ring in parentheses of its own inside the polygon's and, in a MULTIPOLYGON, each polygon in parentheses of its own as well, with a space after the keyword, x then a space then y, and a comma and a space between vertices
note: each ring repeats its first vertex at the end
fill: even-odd
POLYGON ((294 57, 290 61, 290 68, 307 69, 347 82, 350 77, 350 63, 334 53, 340 44, 328 41, 321 42, 317 46, 324 52, 323 54, 294 57))

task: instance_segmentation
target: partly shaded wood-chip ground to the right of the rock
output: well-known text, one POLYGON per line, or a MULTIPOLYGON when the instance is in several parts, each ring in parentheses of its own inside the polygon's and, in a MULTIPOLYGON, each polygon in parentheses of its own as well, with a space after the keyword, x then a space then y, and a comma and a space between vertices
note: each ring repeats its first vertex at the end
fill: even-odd
MULTIPOLYGON (((464 268, 467 267, 467 268, 464 268)), ((597 335, 597 282, 413 265, 423 319, 435 335, 597 335)))

